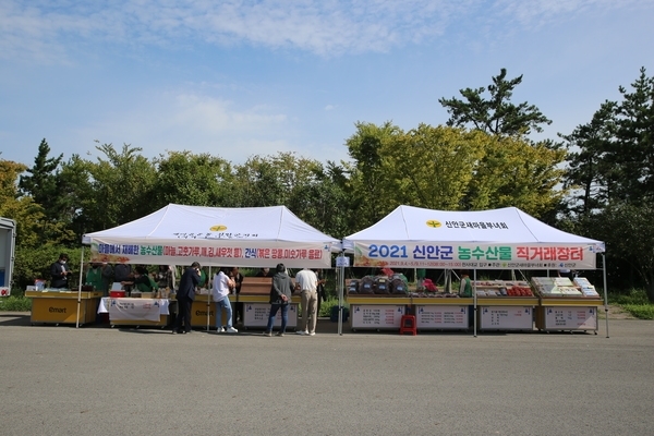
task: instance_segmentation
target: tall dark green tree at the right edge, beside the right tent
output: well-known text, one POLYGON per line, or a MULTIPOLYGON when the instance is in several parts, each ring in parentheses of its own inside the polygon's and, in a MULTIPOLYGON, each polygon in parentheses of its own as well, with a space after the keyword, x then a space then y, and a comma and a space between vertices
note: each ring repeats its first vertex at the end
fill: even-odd
POLYGON ((652 298, 654 78, 641 69, 631 89, 619 92, 621 101, 605 101, 590 123, 562 136, 570 149, 566 186, 573 193, 568 219, 606 243, 611 282, 642 284, 652 298))

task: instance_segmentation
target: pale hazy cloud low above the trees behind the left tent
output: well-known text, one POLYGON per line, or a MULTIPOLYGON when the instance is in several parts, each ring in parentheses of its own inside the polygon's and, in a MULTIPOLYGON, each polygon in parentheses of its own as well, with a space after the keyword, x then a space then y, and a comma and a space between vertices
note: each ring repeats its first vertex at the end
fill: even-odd
POLYGON ((133 101, 125 104, 130 110, 98 113, 101 121, 90 121, 76 129, 76 143, 82 147, 76 153, 84 153, 94 138, 114 145, 129 140, 132 146, 143 148, 148 157, 167 149, 189 149, 234 162, 252 155, 294 150, 288 142, 293 125, 286 113, 266 106, 235 106, 189 90, 134 96, 133 101))

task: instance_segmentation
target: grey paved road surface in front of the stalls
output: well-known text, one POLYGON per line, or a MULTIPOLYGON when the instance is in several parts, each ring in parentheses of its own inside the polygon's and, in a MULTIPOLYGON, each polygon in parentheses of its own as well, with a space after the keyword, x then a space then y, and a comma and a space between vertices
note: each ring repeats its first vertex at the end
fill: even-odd
POLYGON ((0 313, 0 434, 652 435, 654 322, 601 327, 172 336, 0 313))

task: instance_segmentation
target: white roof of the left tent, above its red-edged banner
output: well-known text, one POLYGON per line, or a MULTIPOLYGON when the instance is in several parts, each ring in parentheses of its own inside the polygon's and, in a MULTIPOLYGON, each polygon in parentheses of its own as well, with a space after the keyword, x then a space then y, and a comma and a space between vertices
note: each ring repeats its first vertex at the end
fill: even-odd
POLYGON ((339 241, 298 218, 286 206, 204 207, 169 204, 134 221, 111 229, 87 233, 85 242, 102 239, 120 242, 162 243, 192 239, 194 242, 220 241, 320 242, 339 241))

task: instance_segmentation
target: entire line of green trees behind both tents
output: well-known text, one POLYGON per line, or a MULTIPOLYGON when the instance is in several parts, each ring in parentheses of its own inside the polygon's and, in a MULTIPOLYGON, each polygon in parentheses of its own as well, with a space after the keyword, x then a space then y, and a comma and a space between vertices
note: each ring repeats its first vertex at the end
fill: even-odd
POLYGON ((140 147, 99 142, 97 157, 65 159, 51 156, 44 138, 31 167, 0 158, 0 216, 17 221, 14 282, 24 288, 47 275, 60 251, 74 262, 82 234, 169 203, 284 205, 335 238, 402 204, 514 206, 605 241, 609 289, 642 287, 654 301, 654 78, 641 69, 629 88, 619 86, 621 100, 603 102, 589 123, 545 141, 531 134, 550 120, 512 101, 521 82, 501 69, 487 87, 439 99, 450 117, 445 125, 404 131, 391 121, 356 122, 344 141, 350 160, 340 162, 293 153, 239 165, 187 150, 146 158, 140 147))

